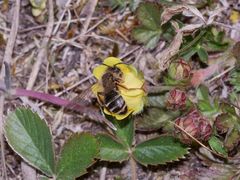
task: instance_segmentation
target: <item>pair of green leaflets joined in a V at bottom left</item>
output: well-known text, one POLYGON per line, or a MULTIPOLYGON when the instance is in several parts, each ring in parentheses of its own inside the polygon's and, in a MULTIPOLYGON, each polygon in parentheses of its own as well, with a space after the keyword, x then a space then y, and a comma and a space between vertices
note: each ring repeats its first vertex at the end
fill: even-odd
POLYGON ((89 133, 74 134, 55 158, 52 135, 46 122, 30 109, 11 112, 4 126, 8 144, 25 161, 56 179, 74 179, 95 162, 99 145, 89 133))

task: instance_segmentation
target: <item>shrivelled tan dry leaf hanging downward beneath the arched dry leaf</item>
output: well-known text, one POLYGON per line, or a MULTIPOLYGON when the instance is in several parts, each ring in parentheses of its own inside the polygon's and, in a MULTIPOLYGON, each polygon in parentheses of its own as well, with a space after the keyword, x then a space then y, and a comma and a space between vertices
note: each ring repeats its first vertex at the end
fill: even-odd
POLYGON ((156 55, 160 71, 164 71, 169 67, 171 63, 171 58, 177 54, 182 44, 182 37, 183 37, 182 31, 178 31, 172 43, 166 49, 164 49, 162 52, 156 55))

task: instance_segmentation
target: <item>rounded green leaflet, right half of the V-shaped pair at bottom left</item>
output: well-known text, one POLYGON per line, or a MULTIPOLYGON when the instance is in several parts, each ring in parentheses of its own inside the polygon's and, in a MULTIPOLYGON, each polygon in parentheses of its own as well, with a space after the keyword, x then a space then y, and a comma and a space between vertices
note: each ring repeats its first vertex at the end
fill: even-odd
POLYGON ((96 138, 88 133, 75 134, 64 144, 57 163, 57 179, 74 179, 85 174, 94 163, 99 146, 96 138))

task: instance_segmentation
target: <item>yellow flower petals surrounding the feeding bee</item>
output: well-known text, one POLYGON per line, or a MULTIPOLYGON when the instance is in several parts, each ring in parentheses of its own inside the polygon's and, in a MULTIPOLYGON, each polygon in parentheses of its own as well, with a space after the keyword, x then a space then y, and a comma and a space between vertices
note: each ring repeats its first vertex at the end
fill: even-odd
MULTIPOLYGON (((144 78, 141 72, 131 65, 123 64, 122 61, 115 57, 108 57, 103 61, 102 65, 97 66, 93 70, 93 75, 97 78, 98 82, 92 86, 93 93, 97 96, 98 93, 104 92, 102 86, 102 76, 106 73, 109 67, 116 66, 123 73, 122 82, 117 85, 120 95, 127 105, 127 112, 123 115, 112 113, 103 107, 105 114, 115 117, 117 120, 122 120, 130 114, 137 114, 142 111, 146 103, 147 93, 145 92, 144 78)), ((98 98, 101 98, 97 96, 98 98)), ((103 98, 103 97, 102 97, 103 98)), ((104 99, 98 99, 103 102, 104 99)))

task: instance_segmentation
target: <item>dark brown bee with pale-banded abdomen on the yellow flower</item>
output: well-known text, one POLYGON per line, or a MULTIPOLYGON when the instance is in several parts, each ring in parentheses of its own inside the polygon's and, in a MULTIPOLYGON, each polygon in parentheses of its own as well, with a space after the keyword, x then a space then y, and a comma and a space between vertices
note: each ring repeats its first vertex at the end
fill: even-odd
POLYGON ((100 106, 106 108, 109 112, 123 115, 127 113, 127 105, 121 96, 118 86, 123 81, 122 71, 115 64, 113 67, 103 64, 108 67, 102 76, 103 92, 98 93, 98 102, 100 106), (102 96, 102 98, 100 97, 102 96))

